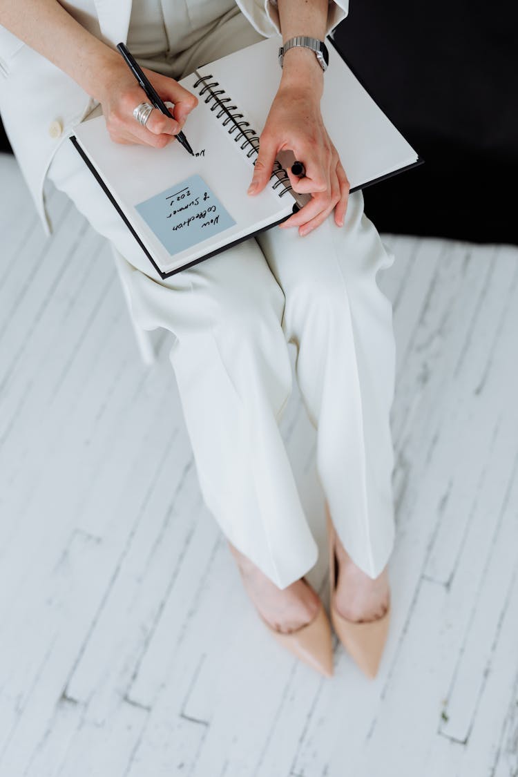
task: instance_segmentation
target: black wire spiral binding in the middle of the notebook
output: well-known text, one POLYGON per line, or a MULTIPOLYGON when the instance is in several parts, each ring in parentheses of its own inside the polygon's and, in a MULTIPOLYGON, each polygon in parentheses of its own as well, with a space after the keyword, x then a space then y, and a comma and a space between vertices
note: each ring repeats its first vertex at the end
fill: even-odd
MULTIPOLYGON (((197 71, 196 75, 199 75, 197 71)), ((214 101, 213 105, 210 106, 210 110, 214 111, 217 110, 217 108, 220 109, 216 113, 216 118, 221 119, 221 117, 225 117, 222 121, 224 127, 229 123, 231 124, 231 127, 228 129, 228 134, 231 135, 237 130, 234 138, 235 142, 238 143, 242 140, 240 148, 242 148, 243 151, 245 151, 247 146, 249 147, 246 152, 249 159, 254 154, 257 156, 259 154, 259 135, 256 133, 256 130, 250 126, 249 121, 244 120, 242 113, 237 112, 238 106, 228 105, 228 103, 231 103, 231 97, 225 95, 224 89, 217 89, 220 83, 218 81, 210 82, 210 78, 213 78, 211 74, 200 75, 197 81, 194 82, 193 88, 198 90, 200 96, 204 96, 205 93, 208 92, 204 102, 208 104, 211 100, 214 101), (241 121, 239 121, 239 119, 241 119, 241 121)), ((256 164, 255 160, 253 161, 253 164, 256 164)), ((273 178, 276 178, 277 180, 272 188, 277 189, 279 186, 281 187, 280 190, 276 192, 278 197, 283 197, 284 194, 293 190, 286 170, 283 169, 277 160, 274 162, 273 172, 271 176, 269 176, 270 180, 273 178)))

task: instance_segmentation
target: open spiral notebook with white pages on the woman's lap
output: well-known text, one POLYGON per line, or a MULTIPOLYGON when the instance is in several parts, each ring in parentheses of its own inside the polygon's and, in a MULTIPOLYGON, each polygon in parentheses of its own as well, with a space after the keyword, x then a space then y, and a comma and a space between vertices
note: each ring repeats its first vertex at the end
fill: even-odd
MULTIPOLYGON (((103 116, 76 127, 71 141, 162 278, 280 224, 310 199, 290 186, 285 152, 265 189, 246 193, 280 83, 280 43, 266 38, 179 82, 199 99, 183 127, 194 156, 176 141, 114 143, 103 116)), ((322 117, 351 191, 422 162, 333 45, 324 75, 322 117)))

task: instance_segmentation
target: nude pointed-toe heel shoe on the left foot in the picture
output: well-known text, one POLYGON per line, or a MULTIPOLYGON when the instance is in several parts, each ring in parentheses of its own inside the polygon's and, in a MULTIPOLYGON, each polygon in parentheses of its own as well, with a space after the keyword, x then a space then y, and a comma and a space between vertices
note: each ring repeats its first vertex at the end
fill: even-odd
MULTIPOLYGON (((305 577, 302 578, 306 585, 309 585, 305 577)), ((332 632, 329 618, 326 615, 322 601, 315 618, 309 623, 305 623, 300 629, 292 632, 280 632, 263 618, 257 610, 262 622, 266 624, 269 631, 275 639, 297 658, 304 661, 304 664, 316 669, 325 677, 332 677, 332 632)))

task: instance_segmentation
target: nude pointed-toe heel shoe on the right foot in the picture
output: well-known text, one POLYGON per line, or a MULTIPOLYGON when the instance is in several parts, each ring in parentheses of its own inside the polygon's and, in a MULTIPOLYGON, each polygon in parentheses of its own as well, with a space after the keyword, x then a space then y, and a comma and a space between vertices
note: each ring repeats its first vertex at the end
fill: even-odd
POLYGON ((387 611, 375 621, 354 622, 340 615, 335 607, 335 585, 338 579, 338 559, 335 554, 335 527, 325 503, 329 537, 329 584, 331 621, 342 645, 368 678, 376 677, 388 634, 391 616, 389 600, 387 611))

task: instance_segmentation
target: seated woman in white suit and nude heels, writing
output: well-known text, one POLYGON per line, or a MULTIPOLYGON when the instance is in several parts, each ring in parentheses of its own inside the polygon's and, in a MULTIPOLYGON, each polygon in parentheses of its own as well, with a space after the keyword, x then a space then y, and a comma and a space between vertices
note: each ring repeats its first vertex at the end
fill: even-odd
POLYGON ((259 615, 284 646, 329 675, 329 621, 304 578, 318 547, 278 425, 291 391, 287 342, 295 343, 301 395, 318 429, 333 623, 373 676, 387 633, 395 528, 395 343, 375 277, 394 257, 363 214, 361 192, 349 197, 320 113, 325 72, 315 52, 284 55, 248 194, 262 191, 276 153, 290 148, 306 168, 301 180, 289 172, 291 184, 311 201, 280 228, 168 279, 66 140, 100 113, 114 142, 162 148, 186 122, 189 137, 197 99, 179 78, 276 33, 284 43, 297 35, 323 41, 346 10, 346 0, 0 0, 0 112, 47 231, 48 178, 123 256, 141 326, 176 335, 170 358, 207 507, 259 615), (135 119, 146 96, 115 50, 120 40, 174 103, 174 119, 158 110, 145 126, 135 119))

